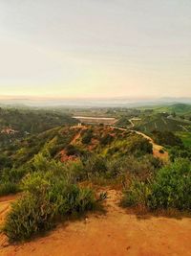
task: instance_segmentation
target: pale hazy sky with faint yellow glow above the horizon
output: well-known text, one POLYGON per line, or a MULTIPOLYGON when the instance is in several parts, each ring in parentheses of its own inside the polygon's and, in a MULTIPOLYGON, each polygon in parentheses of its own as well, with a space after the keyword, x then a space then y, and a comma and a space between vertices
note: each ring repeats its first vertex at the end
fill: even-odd
POLYGON ((0 0, 0 96, 191 97, 191 0, 0 0))

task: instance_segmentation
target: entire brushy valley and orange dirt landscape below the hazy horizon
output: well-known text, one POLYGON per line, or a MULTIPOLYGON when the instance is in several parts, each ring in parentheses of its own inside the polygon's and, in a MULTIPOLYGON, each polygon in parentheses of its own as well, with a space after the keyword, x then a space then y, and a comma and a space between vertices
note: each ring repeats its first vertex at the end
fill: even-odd
POLYGON ((189 255, 187 109, 2 109, 0 255, 189 255))

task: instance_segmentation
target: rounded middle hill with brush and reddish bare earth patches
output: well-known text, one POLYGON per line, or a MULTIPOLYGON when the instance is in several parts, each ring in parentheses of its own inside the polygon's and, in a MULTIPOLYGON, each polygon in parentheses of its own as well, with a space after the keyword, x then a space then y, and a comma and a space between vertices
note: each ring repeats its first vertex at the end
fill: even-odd
POLYGON ((1 168, 19 167, 37 153, 50 154, 62 162, 91 153, 102 156, 152 153, 149 141, 134 132, 110 127, 58 127, 32 135, 3 149, 1 168))

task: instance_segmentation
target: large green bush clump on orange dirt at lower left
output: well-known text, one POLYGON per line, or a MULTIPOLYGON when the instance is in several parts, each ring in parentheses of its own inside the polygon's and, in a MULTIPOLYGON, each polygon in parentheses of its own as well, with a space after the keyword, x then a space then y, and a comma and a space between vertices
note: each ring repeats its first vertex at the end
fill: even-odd
POLYGON ((12 204, 4 232, 11 241, 30 239, 49 230, 68 215, 82 214, 96 205, 91 189, 80 188, 53 172, 33 173, 23 181, 25 194, 12 204))

